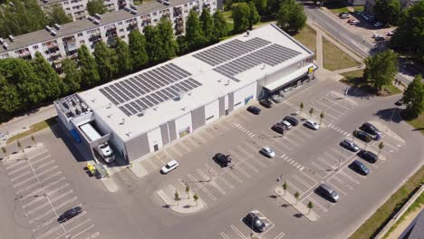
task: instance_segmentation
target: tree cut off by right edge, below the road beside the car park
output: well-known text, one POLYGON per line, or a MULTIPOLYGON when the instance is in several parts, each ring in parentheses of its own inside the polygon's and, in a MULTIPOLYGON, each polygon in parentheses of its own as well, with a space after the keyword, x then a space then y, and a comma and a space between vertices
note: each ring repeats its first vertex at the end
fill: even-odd
POLYGON ((424 111, 424 84, 420 75, 415 76, 403 92, 403 102, 411 118, 417 118, 424 111))

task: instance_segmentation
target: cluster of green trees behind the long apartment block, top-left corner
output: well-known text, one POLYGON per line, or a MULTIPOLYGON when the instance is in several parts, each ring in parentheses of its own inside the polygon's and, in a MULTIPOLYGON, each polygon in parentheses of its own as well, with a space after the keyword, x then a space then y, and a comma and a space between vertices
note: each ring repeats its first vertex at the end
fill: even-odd
POLYGON ((7 0, 0 5, 0 36, 19 35, 43 29, 45 25, 66 24, 72 17, 59 5, 44 14, 36 0, 7 0))

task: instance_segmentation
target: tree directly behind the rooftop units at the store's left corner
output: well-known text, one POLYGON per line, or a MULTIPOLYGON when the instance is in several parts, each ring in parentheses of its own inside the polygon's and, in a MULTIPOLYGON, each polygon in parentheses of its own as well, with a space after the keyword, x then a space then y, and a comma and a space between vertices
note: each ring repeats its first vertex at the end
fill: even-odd
POLYGON ((63 94, 72 93, 81 89, 81 71, 77 69, 75 61, 65 58, 62 61, 63 69, 63 94))

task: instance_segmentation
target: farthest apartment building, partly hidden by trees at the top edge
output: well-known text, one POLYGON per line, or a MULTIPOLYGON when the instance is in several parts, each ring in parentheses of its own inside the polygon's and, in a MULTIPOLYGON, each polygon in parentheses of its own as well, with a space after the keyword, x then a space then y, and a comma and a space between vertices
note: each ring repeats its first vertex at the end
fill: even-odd
MULTIPOLYGON (((108 12, 118 11, 119 9, 132 5, 133 0, 102 0, 108 12)), ((72 16, 73 21, 82 20, 88 15, 88 0, 38 0, 44 12, 48 12, 53 5, 60 5, 65 14, 72 16)))

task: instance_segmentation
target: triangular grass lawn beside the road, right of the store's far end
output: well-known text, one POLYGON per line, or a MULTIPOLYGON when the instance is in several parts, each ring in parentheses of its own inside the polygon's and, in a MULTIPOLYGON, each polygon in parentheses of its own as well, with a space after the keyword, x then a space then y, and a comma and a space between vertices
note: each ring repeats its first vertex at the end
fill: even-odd
POLYGON ((325 69, 336 71, 358 64, 359 62, 323 37, 323 67, 325 69))

